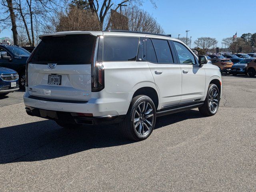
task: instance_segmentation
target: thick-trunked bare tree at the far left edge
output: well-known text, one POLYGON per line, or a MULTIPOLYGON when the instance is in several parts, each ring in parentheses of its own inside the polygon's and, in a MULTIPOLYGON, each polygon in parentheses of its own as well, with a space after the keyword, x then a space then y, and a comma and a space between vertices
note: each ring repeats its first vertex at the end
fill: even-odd
POLYGON ((18 44, 18 32, 17 32, 14 4, 13 4, 12 0, 2 0, 2 6, 4 8, 7 8, 7 10, 4 11, 3 15, 1 14, 0 21, 2 24, 8 25, 8 22, 6 22, 6 20, 11 20, 13 42, 14 42, 14 45, 17 45, 18 44), (5 16, 6 14, 7 14, 7 17, 5 16), (2 18, 2 16, 3 16, 3 18, 2 18))

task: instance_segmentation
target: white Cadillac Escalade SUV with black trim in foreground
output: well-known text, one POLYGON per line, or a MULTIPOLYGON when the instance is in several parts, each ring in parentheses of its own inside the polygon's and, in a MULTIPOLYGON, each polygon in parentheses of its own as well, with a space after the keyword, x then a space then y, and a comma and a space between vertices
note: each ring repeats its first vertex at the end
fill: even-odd
POLYGON ((166 35, 129 31, 58 32, 26 65, 26 112, 62 127, 120 123, 132 140, 152 133, 156 117, 192 108, 216 114, 217 66, 166 35))

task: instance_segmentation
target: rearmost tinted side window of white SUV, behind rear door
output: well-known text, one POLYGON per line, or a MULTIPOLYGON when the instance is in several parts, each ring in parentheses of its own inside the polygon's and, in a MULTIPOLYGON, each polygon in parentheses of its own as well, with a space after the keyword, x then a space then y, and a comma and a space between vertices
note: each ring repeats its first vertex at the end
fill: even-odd
POLYGON ((104 36, 103 61, 136 61, 137 37, 104 36))

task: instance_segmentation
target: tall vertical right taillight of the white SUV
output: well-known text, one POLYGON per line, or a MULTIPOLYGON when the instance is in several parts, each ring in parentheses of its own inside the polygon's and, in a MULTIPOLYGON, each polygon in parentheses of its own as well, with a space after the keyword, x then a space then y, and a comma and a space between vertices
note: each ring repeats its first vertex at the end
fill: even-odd
POLYGON ((102 64, 103 36, 96 39, 92 59, 92 92, 104 89, 104 66, 102 64))

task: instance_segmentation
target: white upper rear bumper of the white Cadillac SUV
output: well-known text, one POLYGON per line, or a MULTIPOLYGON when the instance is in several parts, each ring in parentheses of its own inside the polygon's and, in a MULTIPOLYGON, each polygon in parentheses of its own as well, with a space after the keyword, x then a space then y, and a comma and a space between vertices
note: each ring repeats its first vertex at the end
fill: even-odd
MULTIPOLYGON (((96 94, 104 94, 97 92, 96 94)), ((108 95, 109 96, 109 95, 108 95)), ((109 97, 93 95, 88 102, 69 102, 64 100, 48 100, 30 96, 26 88, 23 96, 24 104, 32 108, 60 111, 86 113, 90 116, 120 116, 125 115, 128 111, 130 102, 127 97, 120 98, 119 94, 111 94, 109 97), (116 96, 117 98, 114 98, 116 96)))

